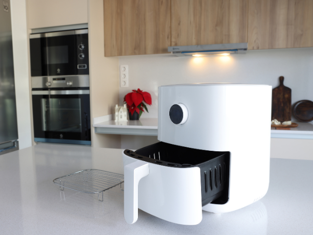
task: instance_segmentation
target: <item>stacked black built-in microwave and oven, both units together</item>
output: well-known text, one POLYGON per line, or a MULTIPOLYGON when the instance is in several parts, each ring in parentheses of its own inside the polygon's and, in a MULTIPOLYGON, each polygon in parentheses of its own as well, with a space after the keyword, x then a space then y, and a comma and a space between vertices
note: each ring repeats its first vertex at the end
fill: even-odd
POLYGON ((88 29, 30 35, 34 140, 91 144, 88 29))

